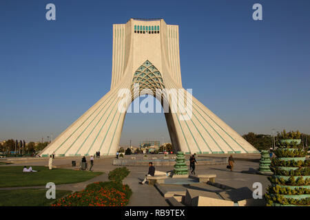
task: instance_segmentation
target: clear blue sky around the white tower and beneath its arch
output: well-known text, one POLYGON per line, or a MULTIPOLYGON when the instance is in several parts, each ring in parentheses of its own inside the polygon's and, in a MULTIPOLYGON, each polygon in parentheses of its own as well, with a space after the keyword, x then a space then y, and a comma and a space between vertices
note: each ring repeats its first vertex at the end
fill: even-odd
MULTIPOLYGON (((0 140, 56 137, 109 91, 112 24, 132 17, 179 25, 183 87, 241 135, 310 133, 309 10, 308 0, 1 0, 0 140)), ((126 115, 121 144, 162 138, 163 114, 126 115)))

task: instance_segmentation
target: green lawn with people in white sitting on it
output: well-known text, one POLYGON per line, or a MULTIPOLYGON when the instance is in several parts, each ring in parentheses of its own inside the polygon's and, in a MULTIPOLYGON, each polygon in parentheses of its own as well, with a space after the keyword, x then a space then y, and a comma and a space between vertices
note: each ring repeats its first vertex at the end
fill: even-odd
POLYGON ((39 172, 23 173, 23 166, 0 167, 0 187, 13 186, 45 186, 48 182, 54 184, 72 184, 92 179, 102 172, 86 170, 52 169, 45 166, 32 166, 39 172))

